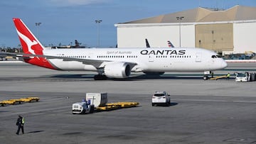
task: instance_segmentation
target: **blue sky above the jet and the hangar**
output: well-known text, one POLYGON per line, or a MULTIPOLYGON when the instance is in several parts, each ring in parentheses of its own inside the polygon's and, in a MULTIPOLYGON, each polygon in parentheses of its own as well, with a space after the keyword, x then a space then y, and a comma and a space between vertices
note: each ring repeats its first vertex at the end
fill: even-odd
POLYGON ((0 48, 17 48, 20 44, 12 18, 21 18, 46 46, 74 45, 78 40, 91 48, 115 47, 115 23, 199 6, 229 9, 238 4, 256 7, 256 0, 1 0, 0 48), (95 23, 95 20, 102 22, 95 23), (36 26, 36 23, 41 25, 36 26))

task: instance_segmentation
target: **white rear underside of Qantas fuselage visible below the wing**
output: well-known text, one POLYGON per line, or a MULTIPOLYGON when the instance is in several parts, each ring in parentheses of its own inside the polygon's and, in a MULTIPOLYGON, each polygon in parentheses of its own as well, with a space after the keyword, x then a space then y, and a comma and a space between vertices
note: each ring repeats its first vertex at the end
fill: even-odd
POLYGON ((67 71, 97 71, 95 67, 92 65, 85 65, 82 64, 82 62, 76 62, 76 61, 63 61, 59 59, 52 59, 49 60, 49 62, 56 67, 57 70, 67 70, 67 71))

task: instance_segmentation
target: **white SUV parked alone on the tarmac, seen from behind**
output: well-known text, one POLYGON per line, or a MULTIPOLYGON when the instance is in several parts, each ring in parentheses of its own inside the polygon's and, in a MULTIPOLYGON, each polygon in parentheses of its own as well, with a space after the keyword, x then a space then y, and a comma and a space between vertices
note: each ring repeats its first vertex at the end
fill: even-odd
POLYGON ((152 106, 165 105, 169 106, 171 104, 170 95, 167 92, 155 92, 152 96, 152 106))

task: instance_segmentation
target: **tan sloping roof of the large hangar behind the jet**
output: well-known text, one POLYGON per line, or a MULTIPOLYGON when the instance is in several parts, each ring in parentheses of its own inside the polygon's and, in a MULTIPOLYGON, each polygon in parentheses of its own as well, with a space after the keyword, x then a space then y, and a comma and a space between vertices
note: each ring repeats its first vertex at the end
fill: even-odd
MULTIPOLYGON (((151 18, 125 23, 177 23, 177 18, 183 16, 181 23, 213 22, 213 21, 245 21, 256 20, 256 7, 233 6, 227 10, 207 9, 198 7, 187 11, 169 13, 151 18)), ((122 23, 119 23, 122 24, 122 23)), ((124 24, 124 23, 123 23, 124 24)))

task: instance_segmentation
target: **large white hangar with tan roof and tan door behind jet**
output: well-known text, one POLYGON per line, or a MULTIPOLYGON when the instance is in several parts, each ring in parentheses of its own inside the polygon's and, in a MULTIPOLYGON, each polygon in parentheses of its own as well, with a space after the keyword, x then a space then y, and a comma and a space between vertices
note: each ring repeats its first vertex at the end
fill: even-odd
POLYGON ((137 21, 115 24, 118 48, 197 47, 223 54, 256 52, 256 7, 198 7, 137 21), (181 39, 180 39, 181 36, 181 39))

